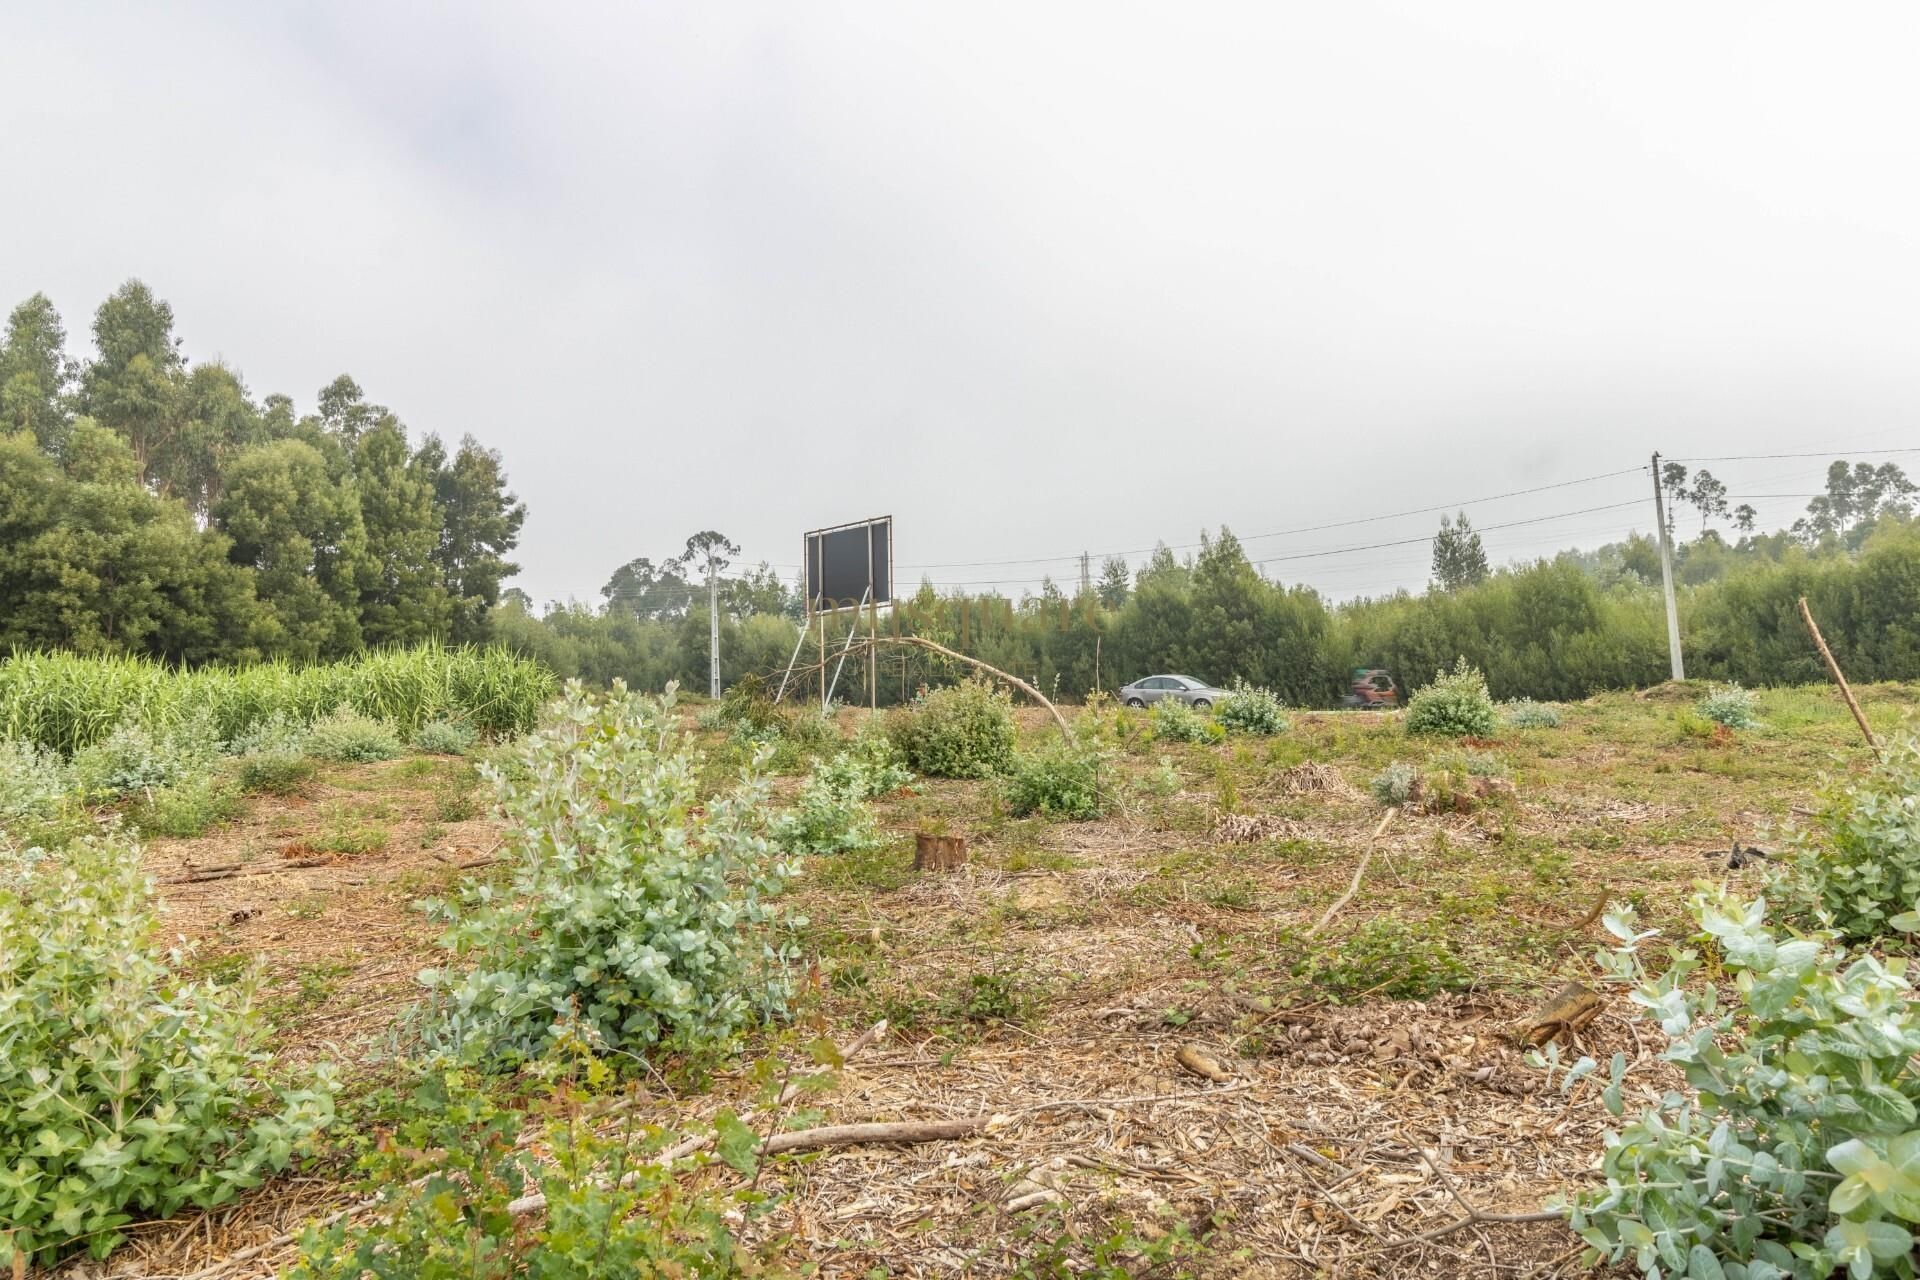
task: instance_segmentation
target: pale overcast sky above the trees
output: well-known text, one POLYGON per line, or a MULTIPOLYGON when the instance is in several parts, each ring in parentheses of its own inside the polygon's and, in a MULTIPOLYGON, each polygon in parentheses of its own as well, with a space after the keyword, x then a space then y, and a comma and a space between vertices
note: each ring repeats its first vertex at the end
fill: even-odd
MULTIPOLYGON (((140 276, 255 395, 472 432, 540 601, 879 512, 941 585, 1227 524, 1419 587, 1317 553, 1432 514, 1288 530, 1920 449, 1916 48, 1905 4, 17 0, 0 305, 88 349, 140 276)), ((1469 510, 1501 562, 1647 493, 1469 510)))

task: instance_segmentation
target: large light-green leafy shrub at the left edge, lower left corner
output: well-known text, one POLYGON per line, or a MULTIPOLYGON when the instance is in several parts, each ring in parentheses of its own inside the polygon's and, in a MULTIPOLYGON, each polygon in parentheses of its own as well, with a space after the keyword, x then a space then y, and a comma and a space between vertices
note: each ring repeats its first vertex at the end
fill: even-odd
POLYGON ((0 1261, 96 1257, 132 1219, 217 1205, 323 1126, 324 1077, 275 1096, 252 986, 182 983, 119 833, 0 850, 0 1261))

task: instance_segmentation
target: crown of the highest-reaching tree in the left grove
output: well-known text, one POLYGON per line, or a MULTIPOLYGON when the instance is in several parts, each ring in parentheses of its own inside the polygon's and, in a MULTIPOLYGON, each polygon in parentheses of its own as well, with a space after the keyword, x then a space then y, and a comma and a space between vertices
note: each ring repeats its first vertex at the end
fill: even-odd
POLYGON ((129 280, 94 313, 94 345, 100 355, 81 376, 81 401, 127 441, 140 478, 163 489, 156 461, 180 430, 186 380, 173 307, 129 280))

